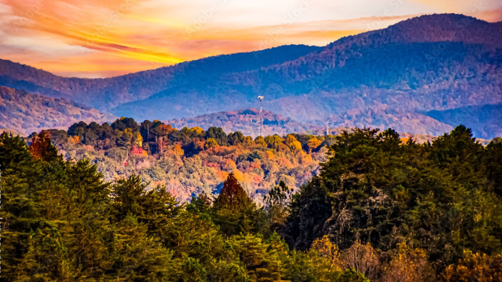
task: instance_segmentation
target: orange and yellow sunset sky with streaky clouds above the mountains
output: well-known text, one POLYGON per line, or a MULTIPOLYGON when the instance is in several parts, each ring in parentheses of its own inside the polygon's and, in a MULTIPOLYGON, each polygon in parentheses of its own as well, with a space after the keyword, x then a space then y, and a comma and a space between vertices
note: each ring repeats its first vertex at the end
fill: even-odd
POLYGON ((499 0, 0 0, 0 58, 110 77, 341 37, 434 13, 502 21, 499 0))

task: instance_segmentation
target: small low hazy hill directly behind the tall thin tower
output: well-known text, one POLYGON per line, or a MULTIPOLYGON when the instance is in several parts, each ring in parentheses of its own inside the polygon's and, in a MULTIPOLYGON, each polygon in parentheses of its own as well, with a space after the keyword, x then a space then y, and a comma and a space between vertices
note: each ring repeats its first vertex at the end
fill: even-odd
MULTIPOLYGON (((286 135, 293 132, 304 133, 312 129, 311 126, 302 124, 291 118, 285 118, 271 111, 263 111, 262 114, 263 135, 286 135)), ((223 128, 225 132, 240 131, 244 135, 253 137, 260 134, 260 111, 254 108, 216 112, 196 117, 166 120, 164 122, 176 128, 199 126, 207 129, 211 126, 217 126, 223 128)))

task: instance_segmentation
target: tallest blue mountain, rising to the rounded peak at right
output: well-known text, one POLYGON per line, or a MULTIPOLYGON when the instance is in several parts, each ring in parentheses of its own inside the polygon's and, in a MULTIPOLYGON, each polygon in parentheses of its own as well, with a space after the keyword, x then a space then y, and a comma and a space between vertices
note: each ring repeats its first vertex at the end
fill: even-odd
POLYGON ((501 38, 498 24, 461 15, 423 16, 340 39, 283 64, 169 88, 112 112, 179 118, 256 107, 256 96, 264 95, 266 109, 301 122, 384 109, 393 122, 383 127, 437 135, 451 128, 425 116, 401 122, 395 113, 419 117, 429 110, 502 102, 501 38))

